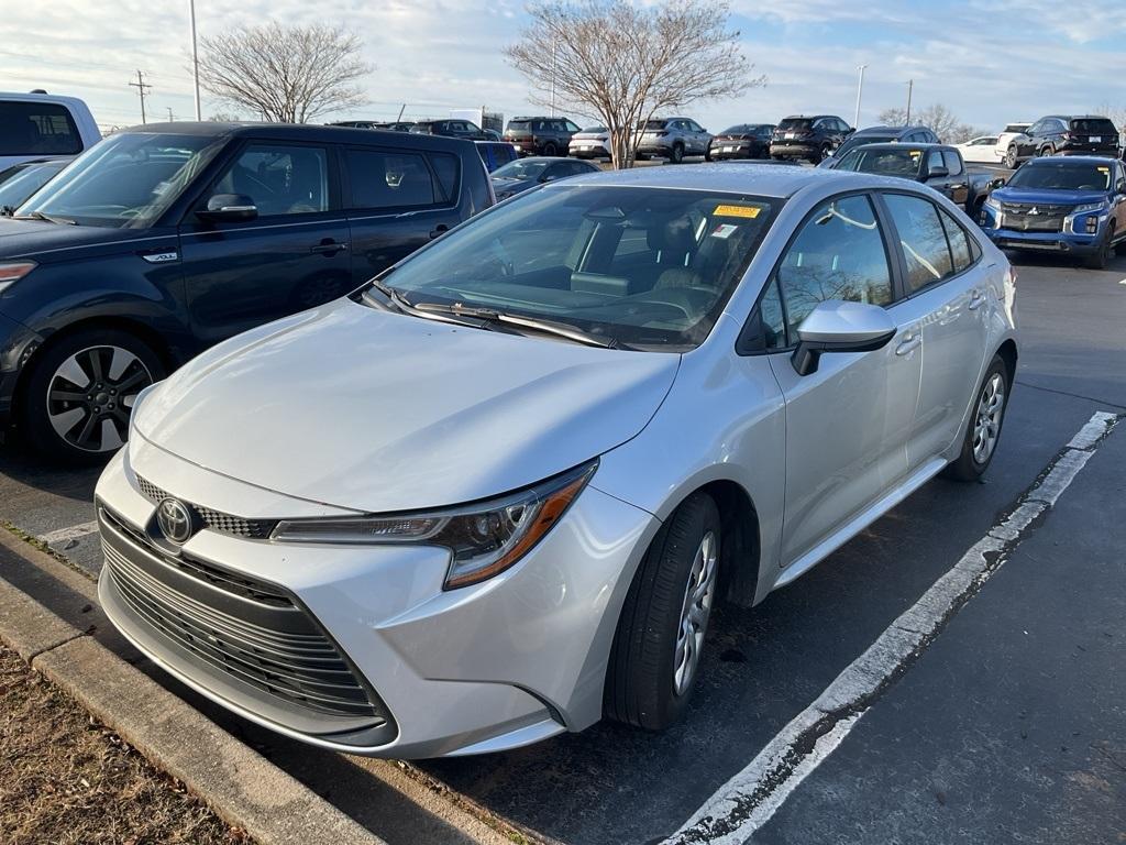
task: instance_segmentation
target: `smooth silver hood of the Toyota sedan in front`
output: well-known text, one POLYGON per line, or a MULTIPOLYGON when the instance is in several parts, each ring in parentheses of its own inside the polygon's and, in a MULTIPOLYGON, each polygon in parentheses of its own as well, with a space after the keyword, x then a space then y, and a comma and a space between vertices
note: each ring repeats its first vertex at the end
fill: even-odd
POLYGON ((340 300, 214 347, 144 397, 145 439, 283 495, 387 513, 483 499, 641 432, 680 356, 340 300))

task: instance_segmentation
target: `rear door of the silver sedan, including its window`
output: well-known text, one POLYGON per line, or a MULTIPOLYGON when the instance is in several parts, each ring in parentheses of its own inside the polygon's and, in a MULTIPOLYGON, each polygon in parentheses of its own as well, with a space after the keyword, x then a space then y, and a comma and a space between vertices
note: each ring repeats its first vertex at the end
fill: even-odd
MULTIPOLYGON (((989 274, 973 235, 926 197, 885 193, 882 199, 899 242, 904 297, 893 311, 922 326, 919 407, 908 465, 941 461, 955 442, 992 350, 989 274)), ((896 320, 901 319, 899 315, 896 320)))

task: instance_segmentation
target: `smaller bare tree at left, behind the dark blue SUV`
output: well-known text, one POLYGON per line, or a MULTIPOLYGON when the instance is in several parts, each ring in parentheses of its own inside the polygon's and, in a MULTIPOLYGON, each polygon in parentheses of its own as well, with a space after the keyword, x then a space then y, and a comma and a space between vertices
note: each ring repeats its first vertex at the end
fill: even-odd
POLYGON ((359 36, 323 25, 270 23, 200 39, 199 81, 263 121, 306 123, 368 101, 351 84, 372 68, 359 36))

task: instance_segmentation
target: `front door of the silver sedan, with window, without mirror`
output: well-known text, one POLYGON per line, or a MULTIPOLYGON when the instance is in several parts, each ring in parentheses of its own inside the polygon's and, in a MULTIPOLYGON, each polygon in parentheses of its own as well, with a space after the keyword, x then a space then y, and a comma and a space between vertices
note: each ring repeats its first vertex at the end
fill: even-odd
POLYGON ((882 349, 823 355, 798 375, 797 329, 828 300, 891 306, 897 264, 867 194, 820 204, 799 226, 763 299, 771 368, 786 403, 786 510, 780 562, 807 558, 834 532, 903 481, 921 375, 922 339, 906 312, 882 349), (769 294, 769 291, 768 291, 769 294))

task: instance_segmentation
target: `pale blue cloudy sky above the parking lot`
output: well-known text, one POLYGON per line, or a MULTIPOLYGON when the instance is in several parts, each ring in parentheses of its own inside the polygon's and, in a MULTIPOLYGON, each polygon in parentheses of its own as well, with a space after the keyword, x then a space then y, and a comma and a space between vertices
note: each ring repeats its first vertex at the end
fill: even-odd
MULTIPOLYGON (((640 0, 644 1, 644 0, 640 0)), ((485 106, 543 114, 501 50, 527 24, 518 0, 196 0, 200 35, 261 23, 347 26, 374 70, 370 104, 329 119, 441 117, 485 106)), ((997 131, 1045 114, 1126 109, 1126 2, 1106 0, 731 0, 731 26, 765 87, 680 109, 717 132, 787 114, 859 125, 906 103, 941 103, 997 131)), ((0 90, 81 97, 104 128, 140 123, 136 71, 152 86, 150 119, 194 116, 188 0, 0 0, 0 90)), ((204 92, 204 117, 236 113, 204 92)), ((250 115, 242 115, 250 117, 250 115)), ((590 121, 571 115, 580 123, 590 121)))

